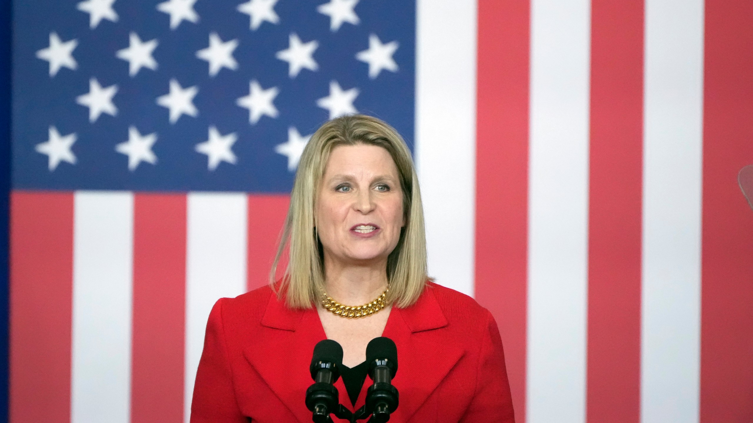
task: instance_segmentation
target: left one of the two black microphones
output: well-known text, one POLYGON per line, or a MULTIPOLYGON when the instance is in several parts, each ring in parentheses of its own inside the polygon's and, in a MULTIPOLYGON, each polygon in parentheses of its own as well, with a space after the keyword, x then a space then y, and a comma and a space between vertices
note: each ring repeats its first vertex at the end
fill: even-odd
POLYGON ((332 384, 340 378, 343 365, 343 347, 331 339, 320 341, 314 347, 311 359, 311 379, 314 384, 306 389, 306 407, 313 412, 316 423, 331 421, 330 413, 340 406, 337 388, 332 384))

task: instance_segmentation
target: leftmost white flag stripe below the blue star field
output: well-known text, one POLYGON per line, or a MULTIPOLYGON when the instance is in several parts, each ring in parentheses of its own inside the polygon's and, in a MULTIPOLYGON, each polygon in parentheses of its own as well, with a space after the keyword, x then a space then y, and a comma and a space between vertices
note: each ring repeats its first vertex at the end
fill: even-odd
POLYGON ((72 423, 130 423, 133 195, 74 196, 72 423))

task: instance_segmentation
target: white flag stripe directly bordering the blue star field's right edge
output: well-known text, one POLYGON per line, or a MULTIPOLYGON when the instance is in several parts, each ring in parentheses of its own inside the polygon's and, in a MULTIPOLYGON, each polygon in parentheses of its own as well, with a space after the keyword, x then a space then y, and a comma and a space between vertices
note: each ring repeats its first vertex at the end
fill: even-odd
POLYGON ((419 0, 416 13, 416 166, 429 274, 474 290, 477 5, 419 0))

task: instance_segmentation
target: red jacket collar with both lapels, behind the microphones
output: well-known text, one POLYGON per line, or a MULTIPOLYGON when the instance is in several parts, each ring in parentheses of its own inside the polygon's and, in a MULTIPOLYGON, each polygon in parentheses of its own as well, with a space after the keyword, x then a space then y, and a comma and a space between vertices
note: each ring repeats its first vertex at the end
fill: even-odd
MULTIPOLYGON (((442 330, 449 323, 433 291, 434 284, 430 283, 413 306, 393 307, 383 332, 398 346, 400 365, 392 383, 401 394, 393 413, 395 421, 408 421, 465 352, 450 342, 446 330, 442 330)), ((300 423, 311 421, 311 412, 304 403, 306 388, 312 384, 309 363, 313 346, 326 338, 316 309, 288 309, 284 300, 271 294, 261 324, 284 332, 269 333, 267 347, 246 348, 245 357, 300 423)), ((354 408, 342 379, 335 384, 340 403, 351 411, 364 405, 370 385, 367 377, 354 408)), ((333 420, 337 421, 334 417, 333 420)))

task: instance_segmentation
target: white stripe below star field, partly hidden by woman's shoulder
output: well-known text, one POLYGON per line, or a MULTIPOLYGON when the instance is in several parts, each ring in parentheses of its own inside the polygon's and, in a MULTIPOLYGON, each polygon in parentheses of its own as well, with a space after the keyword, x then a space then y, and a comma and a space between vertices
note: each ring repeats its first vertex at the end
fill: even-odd
POLYGON ((186 240, 185 412, 191 414, 194 380, 206 320, 215 302, 246 291, 244 193, 189 193, 186 240))

